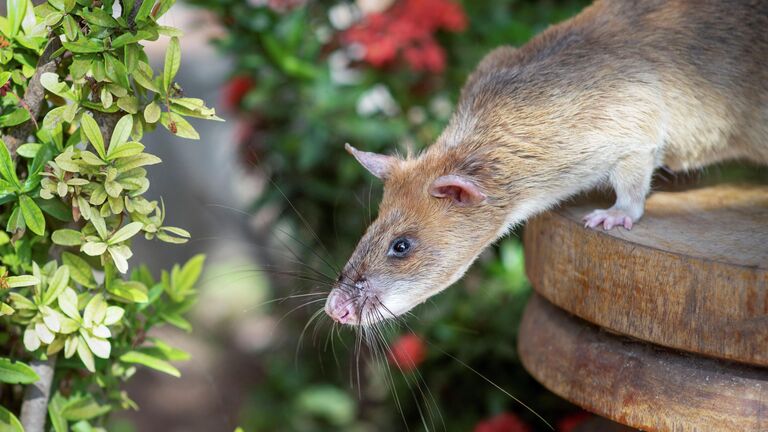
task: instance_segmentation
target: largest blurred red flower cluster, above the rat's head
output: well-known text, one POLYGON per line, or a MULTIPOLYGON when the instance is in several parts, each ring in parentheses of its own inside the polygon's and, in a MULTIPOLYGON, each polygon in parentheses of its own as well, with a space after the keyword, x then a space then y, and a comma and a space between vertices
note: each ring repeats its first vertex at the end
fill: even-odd
POLYGON ((452 0, 401 0, 365 17, 342 40, 362 45, 364 60, 374 67, 388 66, 401 54, 411 69, 439 73, 445 69, 445 51, 434 34, 466 26, 464 10, 452 0))

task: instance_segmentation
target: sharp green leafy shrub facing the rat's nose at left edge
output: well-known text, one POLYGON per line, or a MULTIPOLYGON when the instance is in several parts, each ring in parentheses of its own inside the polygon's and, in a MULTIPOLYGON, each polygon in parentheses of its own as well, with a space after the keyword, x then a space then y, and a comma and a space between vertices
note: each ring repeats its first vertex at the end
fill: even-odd
POLYGON ((144 196, 161 161, 143 134, 196 139, 187 117, 218 119, 174 81, 181 34, 157 23, 173 3, 8 0, 0 17, 2 430, 97 430, 136 408, 121 383, 137 366, 178 376, 169 362, 188 358, 148 334, 190 330, 204 257, 129 272, 136 237, 190 236, 144 196), (142 43, 160 36, 155 75, 142 43))

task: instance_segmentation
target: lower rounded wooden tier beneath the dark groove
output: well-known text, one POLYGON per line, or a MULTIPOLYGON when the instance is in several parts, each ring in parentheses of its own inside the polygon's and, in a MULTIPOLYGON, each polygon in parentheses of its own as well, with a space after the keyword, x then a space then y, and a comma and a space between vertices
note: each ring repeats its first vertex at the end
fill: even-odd
POLYGON ((553 392, 644 431, 766 432, 768 370, 707 359, 601 331, 538 295, 518 351, 553 392))

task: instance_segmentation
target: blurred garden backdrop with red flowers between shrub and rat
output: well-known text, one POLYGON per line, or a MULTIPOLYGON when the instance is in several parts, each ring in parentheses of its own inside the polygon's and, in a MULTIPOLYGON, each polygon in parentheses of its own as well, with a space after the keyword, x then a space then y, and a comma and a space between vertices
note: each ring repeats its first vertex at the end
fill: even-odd
MULTIPOLYGON (((196 142, 147 137, 165 162, 149 170, 150 192, 193 240, 136 253, 158 269, 199 252, 209 264, 194 332, 163 333, 192 354, 178 365, 182 378, 142 370, 128 388, 141 409, 117 415, 114 430, 548 430, 497 386, 557 431, 624 430, 595 423, 520 365, 530 287, 517 235, 390 328, 388 353, 315 314, 381 192, 344 143, 382 153, 429 145, 484 54, 586 3, 187 0, 171 9, 163 19, 185 31, 178 81, 227 121, 197 122, 196 142)), ((149 47, 158 63, 166 42, 149 47)))

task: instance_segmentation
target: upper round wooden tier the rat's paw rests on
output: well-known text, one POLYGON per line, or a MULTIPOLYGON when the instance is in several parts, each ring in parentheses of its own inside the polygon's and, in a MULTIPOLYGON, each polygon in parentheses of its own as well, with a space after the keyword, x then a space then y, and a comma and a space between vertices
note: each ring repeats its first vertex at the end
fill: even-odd
POLYGON ((585 229, 581 217, 605 205, 526 226, 538 293, 617 333, 768 366, 768 186, 658 192, 631 231, 585 229))

